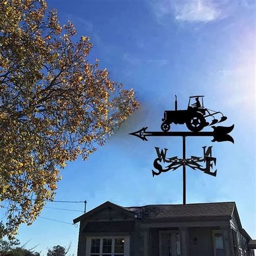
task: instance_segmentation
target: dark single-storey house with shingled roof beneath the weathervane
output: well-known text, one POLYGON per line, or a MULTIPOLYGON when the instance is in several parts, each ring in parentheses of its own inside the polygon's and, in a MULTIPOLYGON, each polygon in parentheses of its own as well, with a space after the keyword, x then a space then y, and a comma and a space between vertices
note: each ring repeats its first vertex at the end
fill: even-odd
POLYGON ((78 222, 78 256, 251 256, 256 248, 234 202, 123 207, 107 201, 78 222))

